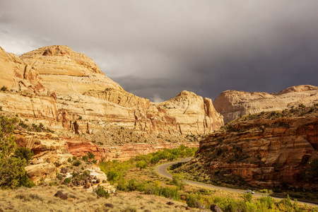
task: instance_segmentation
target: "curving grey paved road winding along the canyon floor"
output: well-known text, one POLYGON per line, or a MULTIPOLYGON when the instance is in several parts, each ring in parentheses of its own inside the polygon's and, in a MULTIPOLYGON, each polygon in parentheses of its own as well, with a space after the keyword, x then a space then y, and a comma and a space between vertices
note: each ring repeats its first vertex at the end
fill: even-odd
MULTIPOLYGON (((174 165, 174 164, 177 164, 177 163, 185 163, 185 162, 188 162, 189 160, 192 160, 192 158, 183 158, 182 160, 178 160, 178 161, 175 161, 175 162, 171 162, 171 163, 165 163, 163 165, 159 165, 157 167, 157 172, 159 173, 159 175, 162 175, 163 177, 167 177, 167 178, 170 178, 172 179, 172 175, 167 172, 167 167, 170 167, 170 165, 174 165)), ((187 184, 192 184, 192 185, 196 185, 196 186, 199 186, 199 187, 208 187, 208 188, 211 188, 211 189, 220 189, 220 190, 223 190, 223 191, 228 191, 228 192, 237 192, 237 193, 240 193, 240 194, 243 194, 246 192, 246 190, 242 190, 242 189, 231 189, 231 188, 227 188, 227 187, 217 187, 217 186, 214 186, 213 184, 206 184, 206 183, 203 183, 203 182, 195 182, 195 181, 192 181, 192 180, 188 180, 188 179, 184 179, 183 182, 186 182, 187 184)), ((266 196, 267 194, 263 194, 263 193, 257 193, 255 192, 254 196, 266 196)), ((278 198, 278 197, 273 197, 271 196, 271 198, 273 199, 283 199, 283 198, 278 198)), ((307 204, 309 206, 315 206, 315 207, 318 207, 317 204, 311 204, 311 203, 307 203, 307 202, 302 202, 302 201, 298 201, 299 203, 302 203, 302 204, 307 204)))

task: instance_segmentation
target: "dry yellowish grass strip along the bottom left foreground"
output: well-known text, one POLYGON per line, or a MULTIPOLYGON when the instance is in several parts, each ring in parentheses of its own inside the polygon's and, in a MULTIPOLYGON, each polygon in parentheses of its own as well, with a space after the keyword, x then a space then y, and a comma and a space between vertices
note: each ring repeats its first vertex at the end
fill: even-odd
MULTIPOLYGON (((161 196, 140 192, 117 192, 110 199, 98 197, 85 189, 59 187, 33 187, 32 189, 0 190, 0 211, 185 211, 187 204, 161 196), (54 196, 61 191, 69 198, 54 196), (172 201, 173 206, 168 206, 172 201), (112 204, 114 208, 105 206, 112 204)), ((199 211, 193 209, 192 211, 199 211)))

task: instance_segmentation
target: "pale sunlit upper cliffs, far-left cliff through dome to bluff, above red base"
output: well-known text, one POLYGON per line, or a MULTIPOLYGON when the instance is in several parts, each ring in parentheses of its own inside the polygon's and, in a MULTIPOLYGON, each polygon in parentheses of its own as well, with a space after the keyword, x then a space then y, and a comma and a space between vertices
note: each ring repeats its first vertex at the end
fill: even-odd
MULTIPOLYGON (((4 50, 2 53, 2 58, 7 62, 1 71, 10 70, 11 73, 11 81, 5 79, 2 82, 8 85, 8 90, 19 91, 13 89, 13 81, 18 81, 18 73, 22 69, 32 70, 33 75, 37 76, 34 80, 42 85, 42 93, 39 93, 40 89, 30 90, 22 100, 18 100, 20 93, 1 93, 2 109, 45 121, 48 117, 62 120, 62 124, 51 122, 56 129, 61 129, 61 125, 69 126, 66 122, 81 119, 86 122, 116 123, 148 134, 177 133, 184 136, 207 134, 223 125, 222 117, 208 98, 203 99, 185 90, 176 98, 161 103, 139 98, 107 78, 85 54, 73 52, 66 46, 42 47, 20 58, 4 50), (49 102, 43 99, 49 99, 49 102), (15 107, 10 104, 13 100, 21 106, 24 102, 30 104, 27 103, 26 108, 15 107), (37 108, 43 108, 42 112, 37 108), (64 118, 60 119, 61 114, 64 118)), ((29 83, 32 80, 25 78, 29 83)))

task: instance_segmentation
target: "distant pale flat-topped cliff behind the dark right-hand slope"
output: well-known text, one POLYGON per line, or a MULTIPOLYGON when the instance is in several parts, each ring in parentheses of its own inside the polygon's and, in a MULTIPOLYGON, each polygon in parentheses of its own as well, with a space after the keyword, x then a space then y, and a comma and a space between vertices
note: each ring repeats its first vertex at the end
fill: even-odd
POLYGON ((245 114, 284 110, 299 104, 311 106, 317 102, 318 87, 305 85, 293 86, 273 94, 226 90, 213 101, 213 105, 223 115, 224 122, 228 123, 245 114))

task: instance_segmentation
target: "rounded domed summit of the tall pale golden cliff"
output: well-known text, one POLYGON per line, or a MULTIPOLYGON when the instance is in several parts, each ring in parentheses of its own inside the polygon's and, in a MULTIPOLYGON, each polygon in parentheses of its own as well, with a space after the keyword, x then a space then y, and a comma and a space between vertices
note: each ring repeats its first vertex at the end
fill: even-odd
POLYGON ((45 88, 58 95, 81 95, 91 89, 122 90, 122 87, 100 71, 93 59, 67 46, 42 47, 22 54, 20 59, 40 73, 45 88))

